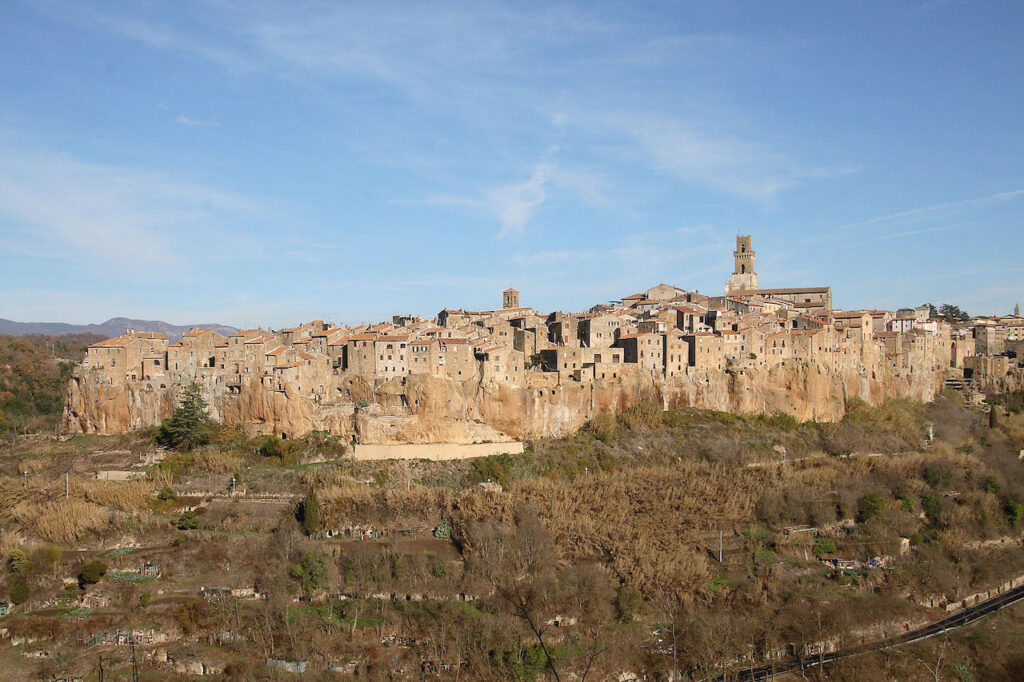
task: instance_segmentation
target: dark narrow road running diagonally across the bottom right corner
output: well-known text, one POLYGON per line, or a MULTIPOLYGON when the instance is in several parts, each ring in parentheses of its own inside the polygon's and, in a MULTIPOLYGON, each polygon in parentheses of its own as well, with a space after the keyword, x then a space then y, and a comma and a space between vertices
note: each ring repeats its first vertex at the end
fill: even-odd
POLYGON ((956 630, 958 628, 963 628, 964 626, 971 625, 972 623, 976 623, 981 619, 994 613, 1000 608, 1006 608, 1007 606, 1015 604, 1021 600, 1024 600, 1024 586, 1010 590, 1009 592, 1004 592, 1002 594, 992 597, 987 601, 983 601, 974 606, 969 606, 953 615, 937 621, 924 628, 911 630, 910 632, 904 633, 899 637, 893 637, 892 639, 886 639, 879 642, 871 642, 870 644, 864 644, 862 646, 845 649, 843 651, 806 657, 803 662, 799 659, 791 659, 780 662, 774 666, 748 668, 735 673, 729 673, 728 676, 721 675, 713 679, 722 681, 749 680, 750 682, 756 682, 757 680, 769 680, 774 675, 781 675, 783 673, 791 673, 801 669, 827 665, 842 658, 859 656, 864 653, 884 651, 897 646, 912 644, 913 642, 920 642, 921 640, 928 639, 929 637, 935 637, 936 635, 941 635, 944 632, 956 630))

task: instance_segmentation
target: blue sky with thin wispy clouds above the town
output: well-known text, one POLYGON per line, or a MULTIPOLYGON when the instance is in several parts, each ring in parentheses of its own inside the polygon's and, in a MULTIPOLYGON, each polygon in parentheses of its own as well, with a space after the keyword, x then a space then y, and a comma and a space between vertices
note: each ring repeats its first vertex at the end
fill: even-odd
POLYGON ((1024 4, 0 4, 0 317, 1024 299, 1024 4))

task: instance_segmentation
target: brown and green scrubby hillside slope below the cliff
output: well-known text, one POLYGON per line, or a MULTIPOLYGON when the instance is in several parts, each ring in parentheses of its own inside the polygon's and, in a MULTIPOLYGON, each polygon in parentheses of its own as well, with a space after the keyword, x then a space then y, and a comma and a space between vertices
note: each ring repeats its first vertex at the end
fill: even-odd
MULTIPOLYGON (((273 657, 310 679, 702 679, 937 620, 1024 573, 1024 418, 953 394, 835 424, 641 402, 455 462, 352 461, 329 434, 249 438, 201 412, 170 424, 202 429, 178 450, 153 429, 0 454, 3 627, 42 638, 0 644, 0 665, 125 672, 125 647, 79 642, 134 627, 167 637, 139 663, 161 678, 285 679, 273 657), (95 478, 125 470, 140 477, 95 478), (204 598, 217 586, 263 598, 204 598)), ((950 670, 1020 670, 1010 640, 985 634, 982 655, 972 636, 943 644, 950 670)), ((938 645, 829 675, 918 679, 938 645)))

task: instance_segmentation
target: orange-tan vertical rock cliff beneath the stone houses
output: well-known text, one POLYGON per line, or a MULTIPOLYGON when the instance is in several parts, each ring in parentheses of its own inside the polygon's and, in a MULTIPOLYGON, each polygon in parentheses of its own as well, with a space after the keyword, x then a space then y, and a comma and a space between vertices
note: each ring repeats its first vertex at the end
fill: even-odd
MULTIPOLYGON (((362 377, 341 373, 328 394, 350 395, 354 402, 271 390, 258 379, 233 389, 218 382, 202 386, 215 419, 253 434, 299 437, 329 430, 364 443, 471 443, 564 435, 596 414, 620 412, 641 399, 665 409, 777 412, 835 421, 852 398, 870 404, 894 397, 933 399, 946 366, 943 358, 935 360, 916 366, 928 371, 914 372, 889 371, 881 361, 840 370, 791 363, 721 371, 691 368, 669 378, 630 372, 614 381, 527 381, 525 386, 483 381, 480 374, 464 382, 408 376, 370 385, 362 377)), ((96 372, 79 368, 68 384, 63 430, 122 433, 159 424, 173 413, 179 390, 159 381, 104 383, 96 372)))

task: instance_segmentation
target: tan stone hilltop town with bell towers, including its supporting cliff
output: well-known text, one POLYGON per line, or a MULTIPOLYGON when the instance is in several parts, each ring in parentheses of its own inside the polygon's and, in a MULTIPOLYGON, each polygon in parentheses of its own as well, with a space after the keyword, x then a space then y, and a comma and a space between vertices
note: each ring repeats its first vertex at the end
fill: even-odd
POLYGON ((194 383, 223 423, 368 443, 559 435, 639 399, 829 421, 854 397, 930 400, 953 387, 980 399, 979 388, 1021 385, 1019 310, 961 323, 928 305, 838 310, 827 286, 760 289, 750 236, 733 256, 721 295, 659 284, 582 312, 546 314, 508 289, 500 308, 433 319, 194 329, 177 343, 128 330, 89 347, 63 428, 158 424, 194 383))

